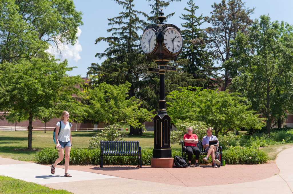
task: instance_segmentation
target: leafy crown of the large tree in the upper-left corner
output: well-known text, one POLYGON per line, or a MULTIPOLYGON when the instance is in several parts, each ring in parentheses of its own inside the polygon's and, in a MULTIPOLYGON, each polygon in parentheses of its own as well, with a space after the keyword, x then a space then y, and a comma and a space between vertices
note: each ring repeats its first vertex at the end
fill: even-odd
POLYGON ((0 63, 41 57, 49 43, 74 45, 83 25, 72 0, 3 0, 0 13, 0 63))

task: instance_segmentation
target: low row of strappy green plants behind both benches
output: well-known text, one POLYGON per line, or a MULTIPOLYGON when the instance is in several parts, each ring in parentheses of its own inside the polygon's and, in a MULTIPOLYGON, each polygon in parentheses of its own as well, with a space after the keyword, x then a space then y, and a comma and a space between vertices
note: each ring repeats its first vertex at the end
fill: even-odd
MULTIPOLYGON (((172 150, 172 157, 175 155, 181 156, 181 151, 172 150)), ((151 165, 151 158, 153 157, 152 149, 142 150, 142 165, 151 165)), ((207 164, 201 155, 199 159, 200 164, 207 164)), ((58 158, 58 152, 54 148, 45 148, 37 152, 35 155, 35 162, 40 164, 53 164, 58 158)), ((265 152, 255 148, 230 147, 223 151, 223 158, 226 164, 262 164, 268 160, 265 152)), ((195 162, 193 157, 192 162, 195 162)), ((211 158, 209 157, 209 162, 211 158)), ((61 164, 64 164, 64 159, 61 164)), ((70 165, 100 165, 100 150, 98 149, 80 149, 72 148, 70 153, 70 165)), ((104 165, 137 165, 137 156, 104 156, 104 165)))

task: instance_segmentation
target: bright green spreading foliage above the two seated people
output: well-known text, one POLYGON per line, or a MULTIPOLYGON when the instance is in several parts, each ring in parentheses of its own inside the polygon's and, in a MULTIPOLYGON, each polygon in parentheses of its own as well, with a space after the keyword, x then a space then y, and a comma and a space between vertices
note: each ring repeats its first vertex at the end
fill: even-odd
POLYGON ((205 122, 214 128, 216 136, 241 127, 261 128, 264 123, 244 97, 229 91, 218 92, 196 88, 181 88, 168 95, 168 113, 172 119, 205 122))

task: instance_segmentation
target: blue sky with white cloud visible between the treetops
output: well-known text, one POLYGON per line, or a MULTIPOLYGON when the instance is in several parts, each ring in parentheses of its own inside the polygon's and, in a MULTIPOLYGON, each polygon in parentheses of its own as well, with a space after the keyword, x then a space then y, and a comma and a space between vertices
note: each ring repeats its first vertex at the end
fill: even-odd
MULTIPOLYGON (((111 34, 107 33, 108 26, 107 18, 113 18, 119 15, 119 12, 123 11, 122 6, 119 6, 116 1, 113 0, 73 0, 77 11, 83 12, 82 21, 83 26, 79 27, 78 42, 74 45, 64 46, 62 57, 60 59, 67 59, 69 66, 76 66, 74 70, 69 72, 69 75, 76 76, 81 75, 86 77, 87 68, 91 66, 91 63, 101 64, 102 60, 95 57, 96 53, 103 53, 108 47, 107 43, 100 42, 95 44, 95 40, 98 37, 108 37, 111 34)), ((166 14, 175 11, 175 15, 165 23, 172 23, 179 28, 183 29, 179 16, 181 13, 186 13, 183 9, 188 7, 188 0, 182 0, 181 2, 174 2, 164 9, 166 14)), ((197 16, 201 13, 203 16, 209 16, 212 11, 211 5, 220 3, 221 0, 195 0, 195 5, 199 6, 197 9, 197 16)), ((292 19, 292 0, 247 0, 246 7, 255 8, 254 14, 251 15, 252 19, 259 18, 260 15, 269 14, 272 20, 285 21, 293 25, 292 19)), ((149 2, 146 0, 134 0, 136 10, 148 13, 151 11, 149 2)), ((201 28, 210 26, 208 23, 204 23, 201 28)), ((142 32, 139 32, 141 35, 142 32)), ((147 67, 146 67, 147 68, 147 67)))

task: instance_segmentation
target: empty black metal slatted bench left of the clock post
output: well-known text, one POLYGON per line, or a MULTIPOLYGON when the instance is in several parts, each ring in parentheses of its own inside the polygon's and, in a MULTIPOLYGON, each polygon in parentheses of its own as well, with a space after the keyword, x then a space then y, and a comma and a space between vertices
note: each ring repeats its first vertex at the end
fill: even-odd
POLYGON ((142 147, 139 147, 139 141, 100 141, 100 144, 101 168, 104 155, 137 155, 138 166, 142 167, 142 147))

